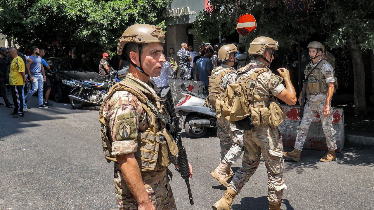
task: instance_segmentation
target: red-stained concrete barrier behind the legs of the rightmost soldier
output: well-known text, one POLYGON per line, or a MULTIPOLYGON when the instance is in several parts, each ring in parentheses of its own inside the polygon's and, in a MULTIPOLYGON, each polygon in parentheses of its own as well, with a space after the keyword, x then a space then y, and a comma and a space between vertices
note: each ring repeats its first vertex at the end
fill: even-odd
MULTIPOLYGON (((283 146, 294 147, 297 130, 299 127, 300 106, 282 105, 286 112, 285 121, 279 126, 283 138, 283 146)), ((335 140, 338 146, 337 152, 341 152, 344 147, 344 114, 342 108, 334 108, 334 120, 332 125, 336 130, 335 140)), ((322 124, 317 115, 309 127, 308 135, 304 143, 304 148, 327 151, 326 139, 322 131, 322 124)))

